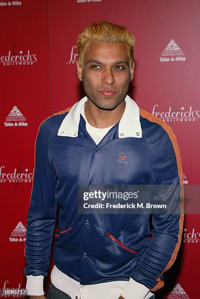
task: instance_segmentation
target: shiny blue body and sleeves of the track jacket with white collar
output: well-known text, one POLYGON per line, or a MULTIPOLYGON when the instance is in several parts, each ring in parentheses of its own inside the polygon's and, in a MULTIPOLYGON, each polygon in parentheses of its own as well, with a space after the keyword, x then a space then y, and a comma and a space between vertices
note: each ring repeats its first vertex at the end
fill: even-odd
POLYGON ((78 214, 77 187, 182 185, 176 137, 126 96, 120 122, 96 145, 80 115, 86 101, 40 125, 24 275, 47 276, 58 205, 54 262, 60 271, 83 285, 133 278, 154 292, 179 251, 181 207, 179 214, 154 214, 150 230, 149 214, 78 214))

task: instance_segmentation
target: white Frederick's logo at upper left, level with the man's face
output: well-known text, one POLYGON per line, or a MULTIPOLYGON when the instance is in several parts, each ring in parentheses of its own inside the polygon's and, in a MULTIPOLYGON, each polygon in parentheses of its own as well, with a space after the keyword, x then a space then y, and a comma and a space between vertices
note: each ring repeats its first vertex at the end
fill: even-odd
POLYGON ((6 65, 33 65, 37 62, 37 55, 31 54, 30 50, 26 52, 26 54, 23 53, 23 51, 20 51, 18 55, 12 55, 11 51, 8 52, 7 55, 0 56, 0 64, 6 66, 6 65))

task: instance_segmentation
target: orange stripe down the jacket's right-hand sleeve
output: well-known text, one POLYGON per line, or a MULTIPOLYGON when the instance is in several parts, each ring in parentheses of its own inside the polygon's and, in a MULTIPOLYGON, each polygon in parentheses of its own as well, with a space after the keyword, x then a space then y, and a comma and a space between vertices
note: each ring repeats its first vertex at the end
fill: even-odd
POLYGON ((158 281, 157 285, 151 289, 152 292, 157 291, 164 285, 164 281, 160 279, 162 274, 167 271, 175 262, 179 248, 180 248, 180 243, 181 243, 181 236, 182 236, 182 229, 183 229, 183 220, 184 220, 184 190, 183 190, 183 175, 182 175, 182 165, 181 165, 181 159, 180 159, 180 150, 179 146, 177 143, 177 138, 172 130, 171 127, 169 127, 165 122, 160 120, 158 117, 155 117, 153 114, 141 109, 140 109, 140 115, 146 119, 148 119, 150 122, 157 123, 159 124, 168 134, 169 138, 171 139, 175 155, 176 155, 176 160, 177 160, 177 168, 178 168, 178 173, 179 173, 179 178, 180 178, 180 219, 179 219, 179 234, 178 234, 178 242, 176 244, 176 247, 174 249, 174 252, 172 253, 172 256, 165 267, 165 269, 162 271, 160 276, 156 279, 158 281))

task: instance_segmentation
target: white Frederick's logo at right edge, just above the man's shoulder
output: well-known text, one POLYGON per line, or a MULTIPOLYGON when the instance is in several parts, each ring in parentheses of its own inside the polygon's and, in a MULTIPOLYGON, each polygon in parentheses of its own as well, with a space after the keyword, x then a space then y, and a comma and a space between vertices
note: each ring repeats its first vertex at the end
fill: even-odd
POLYGON ((155 104, 152 110, 152 114, 156 117, 159 117, 161 120, 166 122, 191 122, 200 118, 199 110, 193 110, 192 106, 189 109, 185 107, 180 107, 180 110, 173 111, 172 107, 169 107, 168 111, 156 111, 159 105, 155 104))

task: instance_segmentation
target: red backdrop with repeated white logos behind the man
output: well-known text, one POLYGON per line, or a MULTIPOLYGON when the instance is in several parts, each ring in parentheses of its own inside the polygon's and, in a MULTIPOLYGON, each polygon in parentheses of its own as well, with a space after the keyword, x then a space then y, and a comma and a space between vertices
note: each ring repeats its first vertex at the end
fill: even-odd
MULTIPOLYGON (((199 0, 0 1, 0 289, 25 287, 35 139, 42 120, 84 96, 76 43, 89 22, 113 21, 136 36, 129 95, 173 128, 184 184, 200 184, 199 11, 199 0)), ((200 215, 187 214, 157 299, 199 298, 199 253, 200 215)), ((53 258, 49 274, 52 267, 53 258)))

